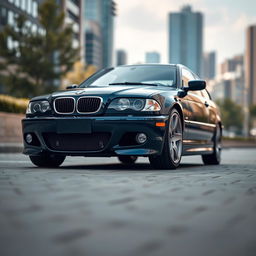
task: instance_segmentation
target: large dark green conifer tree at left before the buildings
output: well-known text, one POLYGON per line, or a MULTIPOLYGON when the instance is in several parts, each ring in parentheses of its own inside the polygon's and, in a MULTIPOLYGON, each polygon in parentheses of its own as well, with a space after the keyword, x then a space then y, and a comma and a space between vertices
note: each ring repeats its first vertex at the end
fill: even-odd
POLYGON ((72 47, 73 30, 64 24, 64 13, 55 0, 46 0, 39 7, 41 28, 32 31, 24 16, 15 19, 15 26, 0 32, 0 55, 4 57, 7 75, 3 84, 14 96, 31 97, 56 90, 54 81, 72 69, 79 49, 72 47), (14 42, 10 48, 8 41, 14 42))

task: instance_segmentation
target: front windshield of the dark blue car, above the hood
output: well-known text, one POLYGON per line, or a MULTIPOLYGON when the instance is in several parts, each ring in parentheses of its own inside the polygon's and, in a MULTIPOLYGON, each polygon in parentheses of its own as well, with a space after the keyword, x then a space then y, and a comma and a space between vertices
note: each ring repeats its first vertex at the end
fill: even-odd
POLYGON ((171 86, 176 83, 176 68, 170 65, 119 66, 103 69, 85 80, 79 87, 109 85, 171 86))

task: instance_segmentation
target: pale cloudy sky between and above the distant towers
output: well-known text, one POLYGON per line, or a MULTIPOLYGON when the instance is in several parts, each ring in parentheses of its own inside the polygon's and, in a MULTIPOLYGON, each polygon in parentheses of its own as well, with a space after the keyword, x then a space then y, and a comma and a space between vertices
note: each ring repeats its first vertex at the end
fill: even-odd
POLYGON ((157 51, 168 61, 168 13, 191 5, 204 14, 204 52, 216 51, 217 62, 242 54, 246 27, 256 24, 256 0, 115 0, 115 49, 124 49, 128 64, 144 62, 157 51))

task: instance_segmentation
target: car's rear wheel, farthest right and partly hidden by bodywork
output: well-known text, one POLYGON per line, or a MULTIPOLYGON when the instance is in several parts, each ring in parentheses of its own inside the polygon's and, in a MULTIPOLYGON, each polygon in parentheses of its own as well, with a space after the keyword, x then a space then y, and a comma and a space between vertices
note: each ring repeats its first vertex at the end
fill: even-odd
POLYGON ((202 155, 205 165, 218 165, 221 162, 221 129, 217 125, 214 135, 213 153, 210 155, 202 155))

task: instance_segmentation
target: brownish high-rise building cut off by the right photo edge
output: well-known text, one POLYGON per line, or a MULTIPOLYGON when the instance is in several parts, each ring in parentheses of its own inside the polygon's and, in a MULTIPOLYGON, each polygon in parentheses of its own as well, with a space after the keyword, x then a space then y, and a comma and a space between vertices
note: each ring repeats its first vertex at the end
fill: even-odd
POLYGON ((245 81, 249 105, 256 104, 256 25, 246 30, 245 81))

